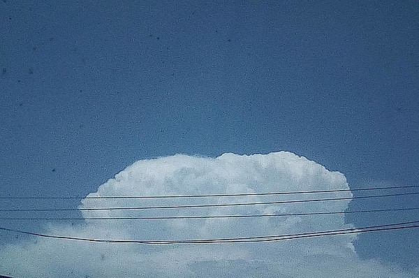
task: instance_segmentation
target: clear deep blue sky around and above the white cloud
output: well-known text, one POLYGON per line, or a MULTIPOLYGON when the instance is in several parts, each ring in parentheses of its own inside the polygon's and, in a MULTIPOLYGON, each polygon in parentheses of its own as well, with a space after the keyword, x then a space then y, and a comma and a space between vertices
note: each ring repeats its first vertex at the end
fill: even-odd
MULTIPOLYGON (((4 0, 1 195, 86 196, 140 159, 281 150, 351 188, 419 184, 418 20, 417 1, 4 0)), ((418 200, 349 207, 401 203, 418 200)), ((418 233, 355 248, 411 270, 418 233)))

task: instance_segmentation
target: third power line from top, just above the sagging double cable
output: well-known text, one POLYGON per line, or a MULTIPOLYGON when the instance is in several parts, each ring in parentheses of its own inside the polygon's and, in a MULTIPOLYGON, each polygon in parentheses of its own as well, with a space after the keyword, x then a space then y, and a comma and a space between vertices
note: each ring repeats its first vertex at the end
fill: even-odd
POLYGON ((328 215, 328 214, 362 214, 374 212, 401 212, 419 210, 419 207, 406 207, 384 210, 354 210, 347 212, 300 212, 300 213, 281 213, 281 214, 238 214, 238 215, 199 215, 184 217, 1 217, 0 220, 174 220, 174 219, 216 219, 216 218, 257 218, 257 217, 289 217, 289 216, 309 216, 309 215, 328 215))

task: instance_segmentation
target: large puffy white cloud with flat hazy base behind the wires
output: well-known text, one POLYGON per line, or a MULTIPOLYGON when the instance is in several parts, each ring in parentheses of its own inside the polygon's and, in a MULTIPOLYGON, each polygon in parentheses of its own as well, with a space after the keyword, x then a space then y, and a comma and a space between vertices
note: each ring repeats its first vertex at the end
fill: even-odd
MULTIPOLYGON (((89 196, 141 196, 348 189, 344 175, 289 152, 216 159, 175 155, 133 163, 89 196)), ((337 196, 328 194, 327 197, 337 196)), ((339 196, 352 194, 339 193, 339 196)), ((230 197, 211 203, 286 200, 290 196, 230 197)), ((294 196, 295 198, 295 196, 294 196)), ((203 203, 205 200, 190 200, 203 203)), ((176 200, 84 199, 80 207, 179 205, 176 200), (156 203, 157 202, 157 203, 156 203)), ((83 211, 84 217, 156 215, 270 214, 344 211, 347 201, 270 206, 210 207, 196 210, 83 211)), ((52 225, 43 233, 128 240, 199 239, 277 235, 351 228, 343 214, 314 217, 85 221, 52 225)), ((269 243, 147 246, 38 238, 8 245, 0 252, 0 271, 16 277, 413 277, 353 250, 354 235, 269 243)))

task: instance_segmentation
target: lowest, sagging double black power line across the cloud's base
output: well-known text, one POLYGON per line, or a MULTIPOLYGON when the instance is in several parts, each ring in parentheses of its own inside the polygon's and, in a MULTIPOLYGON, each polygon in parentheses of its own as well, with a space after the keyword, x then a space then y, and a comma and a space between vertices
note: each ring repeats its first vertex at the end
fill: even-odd
POLYGON ((346 235, 353 233, 369 233, 376 231, 392 231, 402 230, 407 228, 418 228, 419 221, 409 221, 395 224, 385 224, 377 226, 367 226, 362 228, 347 228, 331 231, 321 231, 313 233, 294 233, 286 235, 265 235, 258 237, 232 237, 232 238, 217 238, 204 240, 103 240, 84 237, 68 237, 62 235, 45 235, 42 233, 32 233, 27 231, 20 231, 10 228, 2 228, 0 230, 9 231, 13 233, 22 233, 25 235, 35 235, 38 237, 56 238, 61 240, 78 240, 84 242, 103 242, 103 243, 138 243, 138 244, 219 244, 219 243, 251 243, 251 242, 274 242, 280 240, 295 240, 309 237, 324 237, 330 235, 346 235))

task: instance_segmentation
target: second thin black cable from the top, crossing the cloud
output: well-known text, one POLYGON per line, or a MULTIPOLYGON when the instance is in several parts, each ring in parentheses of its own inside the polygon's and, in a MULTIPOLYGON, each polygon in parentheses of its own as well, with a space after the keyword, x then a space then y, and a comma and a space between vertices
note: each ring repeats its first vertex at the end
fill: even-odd
POLYGON ((151 207, 80 207, 80 208, 57 208, 57 209, 1 209, 0 212, 70 212, 70 211, 87 211, 87 210, 162 210, 162 209, 185 209, 193 207, 233 207, 244 205, 279 205, 288 203, 309 203, 309 202, 325 202, 332 200, 354 200, 365 198, 383 198, 395 196, 417 195, 419 192, 410 193, 394 193, 372 196, 355 196, 355 197, 339 197, 339 198, 319 198, 309 200, 279 200, 272 202, 253 202, 253 203, 227 203, 227 204, 204 204, 204 205, 163 205, 151 207))

